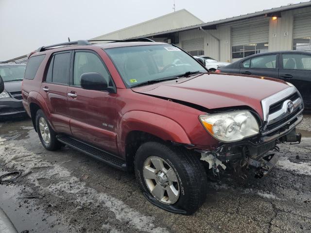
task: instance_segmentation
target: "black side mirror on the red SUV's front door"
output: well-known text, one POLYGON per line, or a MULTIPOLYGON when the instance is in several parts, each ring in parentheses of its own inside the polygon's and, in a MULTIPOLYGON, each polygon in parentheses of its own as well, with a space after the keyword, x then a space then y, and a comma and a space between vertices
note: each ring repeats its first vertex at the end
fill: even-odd
POLYGON ((86 90, 114 92, 114 89, 108 87, 104 76, 97 72, 89 72, 81 75, 81 87, 86 90))

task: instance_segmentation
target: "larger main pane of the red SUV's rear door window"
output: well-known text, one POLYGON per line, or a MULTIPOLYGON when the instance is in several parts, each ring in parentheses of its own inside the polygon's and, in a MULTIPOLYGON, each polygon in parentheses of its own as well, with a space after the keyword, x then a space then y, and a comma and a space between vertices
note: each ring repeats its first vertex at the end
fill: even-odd
POLYGON ((68 83, 70 67, 70 52, 54 55, 52 82, 68 83))

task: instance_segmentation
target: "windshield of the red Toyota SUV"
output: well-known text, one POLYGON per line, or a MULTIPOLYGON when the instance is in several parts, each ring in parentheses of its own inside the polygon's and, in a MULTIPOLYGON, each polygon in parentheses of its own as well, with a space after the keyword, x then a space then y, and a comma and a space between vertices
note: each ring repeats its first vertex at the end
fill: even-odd
POLYGON ((189 54, 172 45, 132 46, 105 51, 130 87, 186 72, 206 72, 189 54))

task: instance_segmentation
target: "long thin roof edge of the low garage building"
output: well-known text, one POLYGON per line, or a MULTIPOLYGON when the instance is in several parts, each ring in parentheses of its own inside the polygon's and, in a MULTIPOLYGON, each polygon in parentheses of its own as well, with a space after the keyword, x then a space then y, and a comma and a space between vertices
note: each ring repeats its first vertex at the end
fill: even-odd
POLYGON ((273 15, 274 13, 279 13, 279 12, 288 11, 288 10, 294 10, 294 9, 298 9, 298 8, 308 7, 308 6, 311 6, 311 1, 300 2, 300 3, 295 3, 295 4, 288 4, 286 6, 275 7, 275 8, 271 8, 271 9, 268 9, 268 10, 257 11, 257 12, 254 12, 254 13, 248 13, 248 14, 240 15, 240 16, 236 16, 236 17, 229 17, 229 18, 214 20, 214 21, 210 21, 210 22, 207 22, 207 23, 200 23, 200 24, 197 24, 197 25, 192 25, 192 26, 188 26, 188 27, 178 28, 178 29, 174 29, 174 30, 167 30, 167 31, 158 32, 158 33, 144 34, 144 35, 133 37, 133 38, 150 37, 150 36, 155 36, 155 35, 160 35, 160 34, 168 34, 168 33, 177 33, 177 32, 197 29, 197 28, 200 28, 200 27, 208 28, 208 27, 215 26, 215 25, 218 25, 218 24, 233 22, 233 21, 247 19, 247 18, 252 18, 252 17, 259 17, 259 16, 265 16, 265 15, 270 16, 270 15, 273 15))

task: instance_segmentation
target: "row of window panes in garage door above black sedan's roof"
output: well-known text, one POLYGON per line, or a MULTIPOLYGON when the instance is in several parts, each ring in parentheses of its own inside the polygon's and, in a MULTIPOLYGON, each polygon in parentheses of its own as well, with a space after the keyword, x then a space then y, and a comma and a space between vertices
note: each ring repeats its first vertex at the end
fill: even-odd
POLYGON ((268 42, 232 46, 232 58, 243 58, 249 55, 267 51, 268 51, 268 42))

